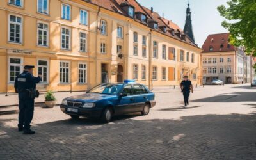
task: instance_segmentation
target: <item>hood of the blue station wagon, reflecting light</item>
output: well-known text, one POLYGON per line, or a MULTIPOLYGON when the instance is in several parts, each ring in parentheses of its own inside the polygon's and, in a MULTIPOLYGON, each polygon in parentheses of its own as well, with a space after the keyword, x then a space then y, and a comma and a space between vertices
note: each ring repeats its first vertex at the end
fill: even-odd
POLYGON ((103 99, 110 99, 114 98, 116 95, 104 95, 98 93, 85 93, 83 95, 74 95, 71 97, 65 98, 65 100, 72 100, 72 101, 83 101, 83 102, 96 102, 98 100, 103 99))

